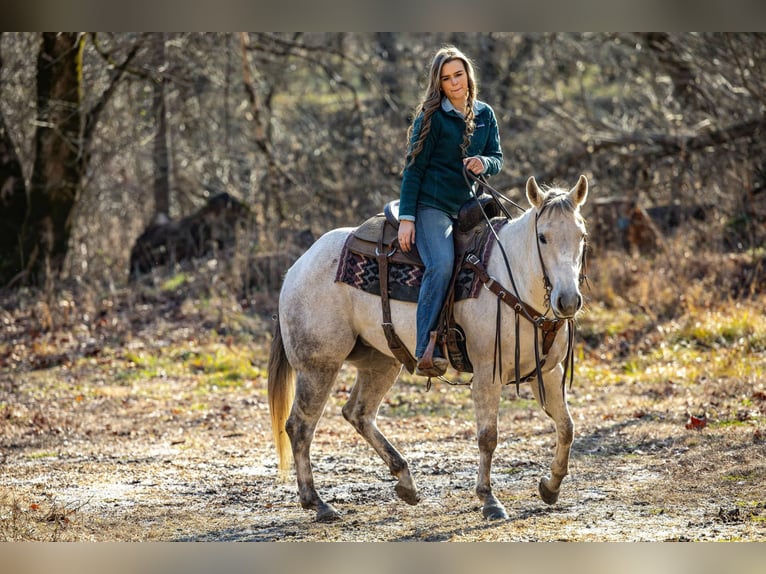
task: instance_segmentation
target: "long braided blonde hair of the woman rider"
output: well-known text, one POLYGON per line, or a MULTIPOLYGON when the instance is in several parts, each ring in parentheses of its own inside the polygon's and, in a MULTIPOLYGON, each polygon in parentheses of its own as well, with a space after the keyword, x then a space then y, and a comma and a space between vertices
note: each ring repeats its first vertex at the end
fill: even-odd
POLYGON ((437 109, 439 109, 439 106, 441 106, 443 96, 441 90, 442 67, 444 64, 451 62, 452 60, 461 60, 463 62, 463 66, 465 66, 466 75, 468 76, 468 98, 466 100, 465 110, 465 132, 463 133, 463 143, 460 146, 460 149, 463 150, 463 156, 465 157, 468 154, 468 146, 471 143, 471 136, 473 135, 473 131, 476 128, 473 113, 473 103, 476 101, 476 94, 478 92, 478 87, 476 85, 476 74, 473 70, 473 63, 468 58, 468 56, 463 54, 463 52, 458 50, 455 46, 444 46, 436 52, 433 60, 431 60, 431 68, 428 74, 428 86, 426 87, 423 99, 415 108, 413 114, 414 119, 410 124, 409 129, 407 130, 407 142, 409 144, 412 139, 412 131, 415 126, 415 119, 417 119, 417 117, 422 113, 423 123, 420 128, 420 134, 417 141, 413 144, 412 149, 408 151, 407 166, 410 166, 412 162, 415 161, 415 158, 418 156, 418 154, 423 151, 423 142, 425 142, 428 133, 431 131, 431 116, 437 109))

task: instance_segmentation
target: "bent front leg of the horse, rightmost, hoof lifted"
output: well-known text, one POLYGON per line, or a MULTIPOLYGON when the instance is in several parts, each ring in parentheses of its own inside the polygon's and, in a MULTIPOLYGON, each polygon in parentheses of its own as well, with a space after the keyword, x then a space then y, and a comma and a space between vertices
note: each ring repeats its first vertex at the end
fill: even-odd
MULTIPOLYGON (((543 384, 545 385, 543 410, 556 425, 556 453, 551 463, 551 475, 542 477, 538 485, 540 498, 546 504, 554 504, 558 500, 561 481, 569 472, 569 451, 574 440, 574 423, 567 407, 566 387, 561 384, 562 376, 563 368, 561 365, 543 375, 543 384)), ((539 403, 537 382, 533 381, 530 386, 539 403)))

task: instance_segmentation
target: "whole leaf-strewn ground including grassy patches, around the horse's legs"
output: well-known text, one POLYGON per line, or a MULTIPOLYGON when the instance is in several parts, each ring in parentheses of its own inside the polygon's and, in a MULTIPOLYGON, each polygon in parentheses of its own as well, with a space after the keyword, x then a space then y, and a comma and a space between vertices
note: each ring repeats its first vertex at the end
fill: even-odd
MULTIPOLYGON (((340 414, 354 376, 344 368, 313 448, 317 487, 343 518, 320 524, 300 507, 294 475, 277 473, 268 316, 228 302, 200 310, 184 297, 126 298, 119 311, 93 303, 87 326, 62 314, 81 317, 71 301, 49 302, 50 317, 39 303, 2 311, 0 540, 766 540, 759 369, 636 376, 618 339, 586 336, 558 503, 537 494, 553 425, 528 388, 517 396, 509 385, 493 486, 510 518, 486 521, 473 492, 469 387, 427 390, 406 375, 384 402, 380 426, 422 496, 409 506, 340 414)), ((711 348, 700 361, 722 354, 711 348)), ((766 363, 762 350, 747 360, 766 363)))

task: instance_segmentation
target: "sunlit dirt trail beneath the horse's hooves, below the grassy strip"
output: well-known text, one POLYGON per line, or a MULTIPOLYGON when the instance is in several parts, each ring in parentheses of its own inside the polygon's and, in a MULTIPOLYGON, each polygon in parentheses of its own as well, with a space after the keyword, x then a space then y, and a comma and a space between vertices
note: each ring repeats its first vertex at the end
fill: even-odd
MULTIPOLYGON (((158 346, 159 347, 159 346, 158 346)), ((161 348, 149 349, 161 353, 161 348)), ((404 378, 380 426, 408 458, 422 502, 340 415, 344 370, 314 442, 315 478, 342 514, 318 524, 277 478, 265 380, 229 388, 200 375, 110 379, 105 352, 0 381, 0 537, 6 540, 639 541, 766 539, 764 429, 685 427, 689 405, 735 401, 736 385, 571 390, 576 423, 559 502, 538 497, 553 425, 522 388, 504 392, 495 492, 510 519, 482 519, 469 391, 404 378)), ((256 350, 264 357, 265 350, 256 350)), ((265 375, 265 371, 262 371, 265 375)), ((749 396, 749 395, 748 395, 749 396)), ((766 395, 761 395, 766 398, 766 395)), ((763 408, 763 402, 755 405, 763 408)), ((760 419, 759 419, 760 420, 760 419)))

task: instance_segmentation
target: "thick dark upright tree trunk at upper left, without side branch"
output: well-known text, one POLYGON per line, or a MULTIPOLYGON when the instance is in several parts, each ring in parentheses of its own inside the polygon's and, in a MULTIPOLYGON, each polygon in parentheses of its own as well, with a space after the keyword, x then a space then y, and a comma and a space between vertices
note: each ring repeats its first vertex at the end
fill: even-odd
POLYGON ((80 192, 83 37, 46 32, 37 58, 37 125, 29 209, 23 228, 26 281, 60 275, 80 192))

